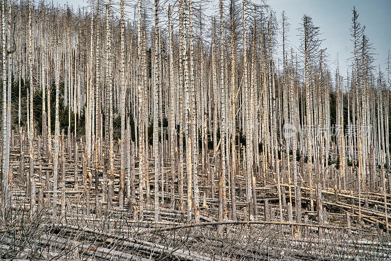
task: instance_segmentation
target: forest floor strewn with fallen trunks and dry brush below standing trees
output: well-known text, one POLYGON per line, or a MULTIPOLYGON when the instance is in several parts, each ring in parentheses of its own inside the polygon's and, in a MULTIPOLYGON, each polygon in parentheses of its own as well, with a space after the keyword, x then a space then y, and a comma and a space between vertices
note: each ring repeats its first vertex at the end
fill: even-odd
MULTIPOLYGON (((269 182, 264 186, 257 182, 258 215, 249 221, 247 204, 240 192, 241 187, 244 188, 240 185, 244 184, 243 176, 238 175, 239 221, 229 220, 229 213, 227 220, 217 222, 218 200, 208 197, 211 195, 211 187, 207 186, 206 175, 200 174, 201 222, 189 222, 186 210, 171 210, 168 192, 165 193, 164 203, 160 204, 160 220, 155 222, 153 189, 151 202, 145 204, 142 215, 135 215, 137 208, 133 206, 136 204, 118 207, 117 173, 114 175, 113 209, 107 210, 107 203, 102 202, 100 195, 95 198, 93 183, 90 184, 91 189, 87 190, 90 198, 90 206, 87 207, 86 190, 74 189, 74 163, 68 160, 65 165, 64 194, 61 195, 62 188, 59 187, 57 215, 53 215, 53 191, 50 186, 45 185, 47 176, 49 182, 52 182, 51 167, 45 157, 36 155, 34 178, 37 208, 31 214, 30 197, 26 194, 25 185, 28 161, 25 160, 21 174, 20 157, 19 148, 13 147, 12 207, 0 221, 0 259, 391 260, 391 240, 384 229, 385 215, 384 212, 377 211, 381 204, 384 206, 384 201, 380 201, 382 194, 379 193, 362 192, 362 204, 359 205, 357 193, 338 191, 335 194, 331 189, 322 190, 324 220, 319 222, 318 214, 308 210, 309 189, 304 184, 301 189, 304 221, 295 223, 287 221, 290 218, 296 220, 295 209, 293 217, 288 217, 286 202, 289 202, 289 185, 282 184, 282 188, 286 189, 282 190, 281 222, 277 184, 269 182), (96 203, 98 208, 95 207, 96 203), (90 208, 89 213, 87 208, 90 208), (359 214, 362 218, 360 222, 359 214)), ((115 161, 117 168, 118 164, 119 154, 115 161)), ((80 173, 82 167, 78 166, 80 173)), ((150 174, 150 178, 152 175, 150 174)), ((80 175, 80 180, 82 179, 80 175)), ((152 182, 150 184, 153 185, 152 182)), ((176 185, 175 181, 175 192, 176 185)), ((217 188, 216 180, 215 189, 217 188)), ((177 194, 175 197, 179 198, 177 194)), ((228 198, 227 202, 229 205, 228 198)))

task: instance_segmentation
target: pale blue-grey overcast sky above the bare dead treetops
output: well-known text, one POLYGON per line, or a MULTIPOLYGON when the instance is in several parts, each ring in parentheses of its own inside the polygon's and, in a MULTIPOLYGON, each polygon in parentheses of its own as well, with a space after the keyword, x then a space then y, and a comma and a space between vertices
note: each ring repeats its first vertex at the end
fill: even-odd
MULTIPOLYGON (((113 3, 119 1, 112 0, 113 3)), ((260 0, 254 0, 254 2, 257 1, 260 2, 260 0)), ((56 1, 54 0, 54 2, 56 1)), ((74 8, 79 5, 88 6, 87 0, 58 0, 59 4, 66 2, 73 5, 74 8)), ((136 1, 125 0, 125 2, 134 4, 136 1)), ((278 21, 281 21, 282 10, 285 11, 289 19, 288 22, 291 24, 289 41, 296 47, 300 45, 297 28, 300 27, 303 15, 312 17, 314 25, 320 27, 321 39, 325 39, 322 48, 327 48, 330 68, 334 73, 338 53, 340 73, 344 76, 346 76, 347 70, 349 70, 349 74, 351 71, 348 67, 351 64, 348 59, 352 57, 353 49, 353 43, 350 41, 351 9, 356 6, 359 22, 366 26, 365 34, 375 48, 374 65, 380 65, 383 73, 387 74, 385 63, 391 48, 391 0, 268 0, 266 3, 275 10, 278 21)), ((209 5, 217 7, 218 1, 215 0, 209 5)), ((205 9, 207 15, 217 11, 217 8, 212 7, 205 9)), ((279 49, 278 52, 282 51, 279 49)))

